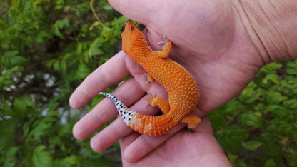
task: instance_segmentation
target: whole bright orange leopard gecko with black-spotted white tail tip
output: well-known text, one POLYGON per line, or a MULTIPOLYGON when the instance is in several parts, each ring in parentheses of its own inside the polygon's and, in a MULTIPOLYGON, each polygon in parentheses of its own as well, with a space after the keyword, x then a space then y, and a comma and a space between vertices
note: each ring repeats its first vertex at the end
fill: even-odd
POLYGON ((121 101, 109 93, 99 92, 114 101, 119 115, 134 131, 148 136, 162 135, 178 122, 187 123, 188 128, 195 128, 200 118, 191 114, 197 105, 199 90, 193 76, 181 65, 168 58, 171 41, 166 40, 162 51, 152 51, 144 34, 128 22, 121 34, 122 49, 131 59, 139 63, 148 73, 148 81, 158 81, 168 91, 169 102, 158 97, 148 98, 150 105, 163 111, 161 116, 146 116, 131 111, 121 101))

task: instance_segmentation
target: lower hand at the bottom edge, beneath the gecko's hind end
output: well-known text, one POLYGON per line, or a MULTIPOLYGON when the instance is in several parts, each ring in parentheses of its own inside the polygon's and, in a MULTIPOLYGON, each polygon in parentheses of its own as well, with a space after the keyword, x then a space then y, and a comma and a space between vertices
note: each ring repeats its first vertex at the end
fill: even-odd
MULTIPOLYGON (((163 138, 167 138, 166 135, 163 138)), ((122 158, 123 166, 158 166, 159 164, 161 166, 231 166, 221 146, 218 145, 213 136, 211 123, 207 117, 202 118, 201 123, 193 133, 188 133, 186 128, 183 128, 144 158, 131 163, 126 159, 132 159, 130 157, 132 155, 124 152, 126 149, 130 149, 129 145, 138 137, 139 135, 136 133, 131 133, 131 135, 120 140, 121 153, 126 155, 122 158)), ((153 140, 153 138, 146 136, 144 141, 138 141, 134 145, 138 145, 142 149, 150 149, 151 145, 149 144, 153 140)), ((138 154, 134 156, 139 158, 138 154)))

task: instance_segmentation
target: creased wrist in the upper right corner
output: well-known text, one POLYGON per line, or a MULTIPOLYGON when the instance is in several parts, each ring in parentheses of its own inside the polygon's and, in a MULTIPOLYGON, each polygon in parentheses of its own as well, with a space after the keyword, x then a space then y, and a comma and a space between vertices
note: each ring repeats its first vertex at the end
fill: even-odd
POLYGON ((248 36, 266 63, 297 58, 297 3, 294 1, 232 1, 248 36))

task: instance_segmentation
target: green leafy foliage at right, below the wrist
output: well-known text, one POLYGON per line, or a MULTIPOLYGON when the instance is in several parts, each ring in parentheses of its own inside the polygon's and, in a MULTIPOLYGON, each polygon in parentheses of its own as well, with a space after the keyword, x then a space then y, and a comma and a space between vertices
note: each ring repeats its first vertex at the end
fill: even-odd
POLYGON ((233 166, 297 166, 297 60, 264 66, 238 98, 208 114, 233 166))

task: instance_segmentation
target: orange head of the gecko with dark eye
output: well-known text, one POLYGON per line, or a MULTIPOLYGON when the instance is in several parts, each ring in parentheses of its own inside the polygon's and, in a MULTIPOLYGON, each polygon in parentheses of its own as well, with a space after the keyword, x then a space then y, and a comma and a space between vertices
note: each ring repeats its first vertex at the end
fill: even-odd
POLYGON ((127 22, 124 31, 121 33, 122 49, 125 53, 129 52, 133 43, 139 42, 144 39, 144 34, 137 28, 137 26, 131 22, 127 22))

